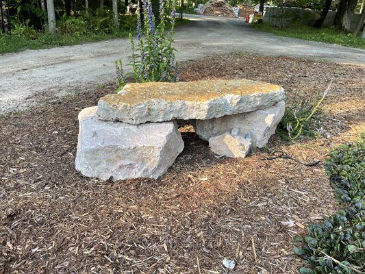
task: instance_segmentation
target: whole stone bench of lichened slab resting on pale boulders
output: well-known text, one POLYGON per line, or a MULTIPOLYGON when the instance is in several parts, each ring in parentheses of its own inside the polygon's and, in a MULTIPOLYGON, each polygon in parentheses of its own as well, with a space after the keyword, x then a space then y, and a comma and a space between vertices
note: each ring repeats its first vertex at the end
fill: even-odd
POLYGON ((158 178, 184 149, 177 119, 218 155, 264 147, 285 112, 280 86, 247 79, 127 84, 79 113, 75 166, 101 179, 158 178))

